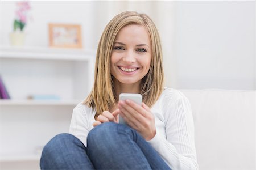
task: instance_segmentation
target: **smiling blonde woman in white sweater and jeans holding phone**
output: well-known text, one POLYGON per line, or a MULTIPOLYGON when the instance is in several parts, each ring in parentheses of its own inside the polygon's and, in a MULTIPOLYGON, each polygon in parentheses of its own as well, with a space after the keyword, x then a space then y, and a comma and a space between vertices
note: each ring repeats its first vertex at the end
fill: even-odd
POLYGON ((198 169, 189 101, 163 84, 152 20, 134 11, 115 16, 98 44, 93 90, 73 110, 70 134, 44 147, 40 167, 198 169), (118 101, 122 92, 141 94, 142 105, 118 101))

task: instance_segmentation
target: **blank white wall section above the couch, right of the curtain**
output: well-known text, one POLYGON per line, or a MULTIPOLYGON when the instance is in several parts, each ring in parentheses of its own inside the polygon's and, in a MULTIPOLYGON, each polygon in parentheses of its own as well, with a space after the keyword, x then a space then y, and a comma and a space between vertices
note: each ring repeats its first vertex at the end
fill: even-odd
POLYGON ((255 89, 255 2, 176 4, 180 88, 255 89))

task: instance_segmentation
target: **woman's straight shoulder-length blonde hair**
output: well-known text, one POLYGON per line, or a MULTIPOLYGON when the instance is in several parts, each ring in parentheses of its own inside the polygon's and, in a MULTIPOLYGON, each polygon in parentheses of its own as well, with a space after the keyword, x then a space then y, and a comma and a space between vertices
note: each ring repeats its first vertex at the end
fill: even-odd
POLYGON ((150 69, 141 82, 143 102, 148 107, 152 107, 163 91, 162 47, 155 24, 146 14, 138 14, 135 11, 122 12, 110 20, 102 33, 96 54, 93 90, 84 101, 88 107, 96 109, 97 114, 109 111, 118 100, 114 93, 113 79, 110 73, 110 57, 117 33, 130 24, 144 26, 150 35, 152 44, 150 69))

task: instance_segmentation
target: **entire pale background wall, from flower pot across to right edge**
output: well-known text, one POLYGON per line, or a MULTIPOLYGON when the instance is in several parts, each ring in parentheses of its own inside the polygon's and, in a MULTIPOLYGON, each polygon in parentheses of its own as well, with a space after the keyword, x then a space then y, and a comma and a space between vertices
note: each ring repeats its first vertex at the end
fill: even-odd
MULTIPOLYGON (((97 48, 105 25, 126 10, 145 12, 162 38, 166 86, 255 89, 254 1, 32 1, 27 46, 48 46, 47 23, 82 25, 97 48)), ((0 2, 0 45, 8 45, 15 2, 0 2)))

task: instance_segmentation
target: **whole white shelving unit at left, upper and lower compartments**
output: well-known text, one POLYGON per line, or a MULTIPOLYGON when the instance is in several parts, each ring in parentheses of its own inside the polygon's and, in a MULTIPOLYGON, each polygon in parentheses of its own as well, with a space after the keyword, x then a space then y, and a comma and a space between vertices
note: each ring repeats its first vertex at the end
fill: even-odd
POLYGON ((11 96, 0 99, 1 165, 37 163, 52 137, 68 133, 73 108, 92 89, 94 58, 94 50, 0 46, 0 74, 11 96), (36 95, 59 100, 27 99, 36 95))

